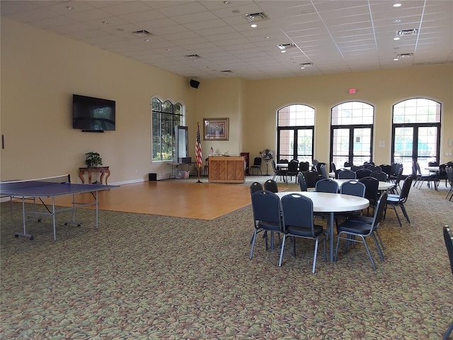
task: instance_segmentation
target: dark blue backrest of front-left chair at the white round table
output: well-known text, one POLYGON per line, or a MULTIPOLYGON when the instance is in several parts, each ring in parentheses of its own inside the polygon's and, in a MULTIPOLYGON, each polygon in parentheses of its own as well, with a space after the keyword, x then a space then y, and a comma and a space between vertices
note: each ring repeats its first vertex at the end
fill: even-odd
POLYGON ((265 190, 253 193, 252 209, 255 221, 281 225, 280 198, 275 193, 265 190))

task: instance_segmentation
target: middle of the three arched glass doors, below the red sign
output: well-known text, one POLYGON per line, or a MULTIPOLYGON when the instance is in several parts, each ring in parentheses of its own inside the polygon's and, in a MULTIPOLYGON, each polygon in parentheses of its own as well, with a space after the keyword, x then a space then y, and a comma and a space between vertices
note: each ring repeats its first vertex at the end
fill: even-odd
POLYGON ((331 162, 337 167, 363 164, 373 159, 374 107, 348 101, 332 108, 331 162))

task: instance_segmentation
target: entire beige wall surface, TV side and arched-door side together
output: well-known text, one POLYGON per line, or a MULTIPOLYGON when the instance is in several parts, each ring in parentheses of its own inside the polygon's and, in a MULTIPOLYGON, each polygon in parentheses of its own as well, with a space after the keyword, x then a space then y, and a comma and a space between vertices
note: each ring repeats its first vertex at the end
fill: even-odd
MULTIPOLYGON (((147 179, 171 169, 151 163, 152 96, 180 101, 186 109, 189 150, 194 157, 195 129, 202 118, 230 119, 229 141, 202 141, 203 157, 214 152, 275 150, 275 112, 290 103, 316 109, 315 156, 328 160, 329 115, 332 106, 366 101, 376 111, 374 161, 390 161, 391 106, 402 99, 427 96, 442 103, 442 162, 453 152, 453 65, 413 67, 321 77, 244 81, 237 78, 188 79, 155 67, 81 44, 43 30, 1 18, 0 129, 1 180, 70 173, 77 179, 84 154, 96 151, 112 169, 110 183, 147 179), (357 94, 348 95, 355 87, 357 94), (71 128, 71 95, 109 98, 117 105, 117 130, 87 133, 71 128), (379 148, 379 141, 385 147, 379 148), (193 147, 192 147, 193 146, 193 147)), ((263 168, 264 169, 264 168, 263 168)))

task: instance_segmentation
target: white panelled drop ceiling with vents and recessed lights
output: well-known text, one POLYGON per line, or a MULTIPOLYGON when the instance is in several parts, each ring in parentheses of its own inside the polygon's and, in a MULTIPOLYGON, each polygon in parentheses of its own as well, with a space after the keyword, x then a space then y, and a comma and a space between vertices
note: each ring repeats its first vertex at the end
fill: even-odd
POLYGON ((1 0, 0 13, 194 79, 453 62, 452 0, 1 0))

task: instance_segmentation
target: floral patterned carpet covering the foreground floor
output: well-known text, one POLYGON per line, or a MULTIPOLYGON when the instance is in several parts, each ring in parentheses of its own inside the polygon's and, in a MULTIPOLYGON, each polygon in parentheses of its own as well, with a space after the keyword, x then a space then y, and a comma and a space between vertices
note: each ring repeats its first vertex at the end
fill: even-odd
POLYGON ((250 205, 210 221, 100 211, 99 229, 78 210, 87 222, 61 223, 55 242, 50 219, 28 222, 33 241, 14 238, 21 206, 11 219, 2 203, 0 338, 442 339, 453 320, 442 185, 411 188, 411 224, 388 210, 384 261, 370 242, 376 271, 358 244, 336 263, 319 256, 316 274, 309 240, 295 258, 287 246, 281 268, 262 238, 248 259, 250 205))

